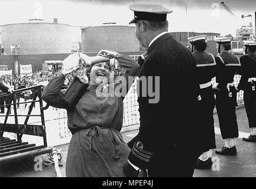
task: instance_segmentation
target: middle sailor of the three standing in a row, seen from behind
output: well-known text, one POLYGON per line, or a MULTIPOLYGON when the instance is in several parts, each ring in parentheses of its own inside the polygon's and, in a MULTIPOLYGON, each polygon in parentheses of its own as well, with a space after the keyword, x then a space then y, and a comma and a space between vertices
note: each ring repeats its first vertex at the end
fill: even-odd
POLYGON ((219 57, 222 67, 219 68, 216 76, 216 110, 219 118, 219 128, 225 145, 216 149, 216 154, 236 155, 236 138, 238 138, 238 124, 236 121, 235 107, 236 88, 234 76, 241 67, 239 58, 229 53, 231 50, 231 38, 217 38, 219 57))

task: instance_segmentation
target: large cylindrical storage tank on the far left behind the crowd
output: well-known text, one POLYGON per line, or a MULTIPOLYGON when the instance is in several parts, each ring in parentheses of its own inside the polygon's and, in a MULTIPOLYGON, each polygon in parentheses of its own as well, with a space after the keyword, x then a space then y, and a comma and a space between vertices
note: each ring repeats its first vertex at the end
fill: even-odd
POLYGON ((71 53, 71 26, 30 22, 1 25, 2 46, 11 54, 11 45, 20 44, 19 54, 71 53))

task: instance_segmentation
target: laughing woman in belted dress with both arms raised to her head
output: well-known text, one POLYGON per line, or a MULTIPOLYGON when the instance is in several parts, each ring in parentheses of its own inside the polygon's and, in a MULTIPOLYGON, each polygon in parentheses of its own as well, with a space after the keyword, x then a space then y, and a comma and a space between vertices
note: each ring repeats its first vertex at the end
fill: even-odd
POLYGON ((122 166, 127 161, 130 149, 119 133, 122 128, 122 100, 125 96, 116 95, 120 92, 116 89, 129 89, 132 83, 124 79, 128 81, 129 76, 137 76, 140 66, 131 57, 113 51, 102 50, 99 52, 101 54, 107 55, 70 55, 63 61, 63 72, 51 79, 43 90, 42 99, 49 105, 67 109, 67 124, 73 134, 67 154, 67 177, 125 176, 122 166), (109 58, 118 60, 119 66, 126 70, 115 83, 108 83, 109 58), (77 70, 81 66, 79 61, 88 67, 89 86, 85 75, 80 74, 85 70, 77 70), (70 72, 80 81, 74 87, 78 99, 74 103, 63 100, 60 92, 65 76, 70 72), (77 89, 80 89, 79 92, 77 89))

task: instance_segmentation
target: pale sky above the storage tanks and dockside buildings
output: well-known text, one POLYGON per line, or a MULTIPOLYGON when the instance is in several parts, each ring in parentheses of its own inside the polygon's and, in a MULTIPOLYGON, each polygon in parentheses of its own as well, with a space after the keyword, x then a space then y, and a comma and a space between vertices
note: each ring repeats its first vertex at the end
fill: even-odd
POLYGON ((116 22, 128 25, 134 17, 129 9, 131 4, 160 4, 173 12, 167 15, 169 31, 218 32, 235 36, 241 25, 254 26, 256 0, 0 0, 0 25, 28 22, 28 19, 44 19, 53 22, 57 18, 61 24, 69 24, 72 41, 80 38, 80 27, 116 22), (232 15, 221 5, 231 9, 232 15), (241 18, 241 15, 252 17, 241 18))

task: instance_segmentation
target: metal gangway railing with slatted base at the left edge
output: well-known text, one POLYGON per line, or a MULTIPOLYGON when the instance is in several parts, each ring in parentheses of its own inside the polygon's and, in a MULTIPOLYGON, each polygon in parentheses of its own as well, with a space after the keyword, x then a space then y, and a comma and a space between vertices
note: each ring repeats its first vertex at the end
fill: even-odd
MULTIPOLYGON (((17 161, 22 158, 35 157, 37 155, 47 154, 52 151, 52 149, 47 146, 46 127, 44 122, 44 107, 43 100, 41 99, 41 87, 43 86, 33 86, 25 89, 15 90, 12 94, 0 94, 0 98, 6 99, 6 104, 0 106, 7 107, 6 115, 0 115, 0 118, 4 117, 4 122, 0 123, 1 163, 17 161), (17 93, 21 93, 27 90, 34 90, 33 98, 26 102, 17 103, 17 93), (40 105, 40 108, 37 109, 39 110, 39 112, 37 111, 37 114, 31 114, 36 102, 38 102, 40 105), (28 103, 30 103, 30 106, 27 113, 26 111, 23 111, 23 113, 25 114, 22 114, 20 111, 17 111, 17 105, 27 105, 28 103), (11 107, 13 107, 12 113, 11 107), (30 118, 35 118, 36 120, 38 120, 38 118, 41 118, 41 121, 38 125, 35 125, 28 122, 30 118), (5 133, 15 133, 17 136, 9 138, 7 136, 4 136, 5 133), (40 136, 43 138, 43 145, 41 143, 40 145, 36 145, 34 143, 28 144, 28 142, 24 142, 22 140, 23 135, 40 136)), ((36 110, 33 112, 36 112, 36 110)))

